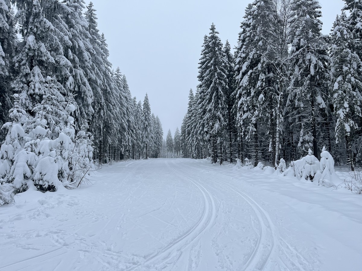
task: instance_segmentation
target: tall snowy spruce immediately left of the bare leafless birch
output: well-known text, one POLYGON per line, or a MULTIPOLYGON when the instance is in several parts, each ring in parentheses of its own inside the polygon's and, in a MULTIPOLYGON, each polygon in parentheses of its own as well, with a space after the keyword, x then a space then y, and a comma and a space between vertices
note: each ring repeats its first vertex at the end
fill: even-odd
MULTIPOLYGON (((270 141, 275 147, 275 86, 272 65, 266 58, 268 35, 264 21, 271 17, 271 2, 254 1, 245 10, 237 45, 235 65, 237 124, 251 145, 254 166, 258 163, 260 143, 258 124, 268 122, 270 141)), ((259 125, 260 126, 260 125, 259 125)), ((273 148, 273 151, 275 148, 273 148)), ((251 158, 251 157, 249 157, 251 158)))

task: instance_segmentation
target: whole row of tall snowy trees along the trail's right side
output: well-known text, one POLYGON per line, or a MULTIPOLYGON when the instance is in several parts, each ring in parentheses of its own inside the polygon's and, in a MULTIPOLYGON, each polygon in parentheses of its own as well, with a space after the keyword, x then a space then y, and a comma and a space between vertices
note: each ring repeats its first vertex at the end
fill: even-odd
POLYGON ((238 45, 205 35, 199 85, 181 126, 184 157, 276 166, 327 146, 354 170, 362 155, 362 3, 345 7, 321 34, 317 0, 255 0, 238 45))

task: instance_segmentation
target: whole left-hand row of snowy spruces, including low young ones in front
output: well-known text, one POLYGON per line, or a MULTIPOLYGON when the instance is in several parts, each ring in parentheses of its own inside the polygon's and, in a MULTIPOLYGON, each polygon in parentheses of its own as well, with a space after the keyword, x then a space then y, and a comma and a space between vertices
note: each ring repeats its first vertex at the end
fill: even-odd
POLYGON ((75 187, 93 159, 160 155, 147 94, 132 98, 108 57, 92 3, 0 0, 0 185, 75 187))

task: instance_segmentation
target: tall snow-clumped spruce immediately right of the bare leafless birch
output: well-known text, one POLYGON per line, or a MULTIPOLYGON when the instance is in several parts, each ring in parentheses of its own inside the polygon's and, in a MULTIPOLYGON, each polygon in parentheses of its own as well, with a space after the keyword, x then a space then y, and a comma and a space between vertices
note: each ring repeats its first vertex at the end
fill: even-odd
MULTIPOLYGON (((299 135, 300 155, 309 149, 318 157, 317 142, 325 122, 323 112, 329 110, 329 56, 325 37, 321 34, 320 4, 317 0, 294 0, 295 16, 290 21, 295 32, 290 53, 291 83, 287 109, 290 123, 299 135)), ((324 113, 325 115, 325 113, 324 113)))

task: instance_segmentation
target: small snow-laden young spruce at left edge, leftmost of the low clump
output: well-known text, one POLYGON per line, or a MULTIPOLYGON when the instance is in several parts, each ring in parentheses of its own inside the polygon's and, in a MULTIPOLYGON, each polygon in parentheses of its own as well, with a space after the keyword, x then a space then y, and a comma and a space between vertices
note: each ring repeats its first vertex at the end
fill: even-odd
POLYGON ((21 107, 20 100, 23 97, 19 94, 14 94, 13 97, 14 106, 9 111, 10 121, 3 125, 3 129, 7 129, 7 135, 0 148, 0 180, 12 184, 15 193, 19 193, 28 189, 26 181, 33 175, 29 162, 33 164, 34 157, 27 153, 18 155, 24 151, 25 143, 30 141, 28 132, 32 117, 21 107))

